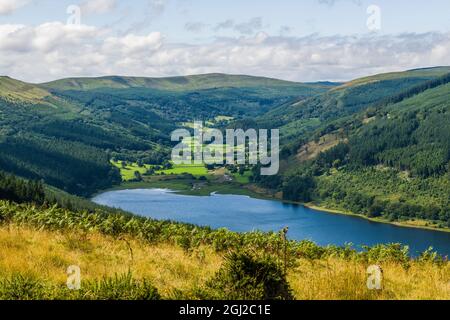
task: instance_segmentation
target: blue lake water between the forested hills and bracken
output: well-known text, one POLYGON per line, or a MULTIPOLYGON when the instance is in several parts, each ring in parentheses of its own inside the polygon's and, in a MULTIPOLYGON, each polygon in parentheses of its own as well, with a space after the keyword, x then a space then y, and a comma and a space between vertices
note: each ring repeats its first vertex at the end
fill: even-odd
POLYGON ((174 220, 232 231, 279 231, 288 226, 291 239, 309 239, 319 245, 402 243, 412 255, 432 246, 450 256, 450 233, 371 222, 331 214, 301 205, 237 195, 185 196, 163 189, 103 193, 94 202, 159 220, 174 220))

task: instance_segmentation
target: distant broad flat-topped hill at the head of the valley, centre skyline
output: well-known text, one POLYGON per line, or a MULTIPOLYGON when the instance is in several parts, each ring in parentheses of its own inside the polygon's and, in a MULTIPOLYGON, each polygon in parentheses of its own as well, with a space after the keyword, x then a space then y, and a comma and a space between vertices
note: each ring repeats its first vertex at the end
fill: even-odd
MULTIPOLYGON (((89 103, 132 104, 170 121, 208 121, 262 115, 293 99, 304 99, 334 87, 332 83, 303 84, 270 78, 206 74, 171 78, 72 78, 43 84, 54 94, 89 103), (99 101, 97 101, 99 100, 99 101)), ((129 109, 127 107, 127 109, 129 109)), ((139 110, 138 110, 139 111, 139 110)))

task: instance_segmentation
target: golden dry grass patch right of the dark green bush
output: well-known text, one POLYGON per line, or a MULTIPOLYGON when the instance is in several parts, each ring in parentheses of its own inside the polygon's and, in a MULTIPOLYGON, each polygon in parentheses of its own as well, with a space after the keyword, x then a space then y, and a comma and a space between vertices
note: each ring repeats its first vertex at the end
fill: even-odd
POLYGON ((291 272, 296 298, 305 300, 423 300, 450 299, 450 266, 412 263, 382 265, 382 290, 367 289, 367 267, 342 259, 301 261, 291 272))

